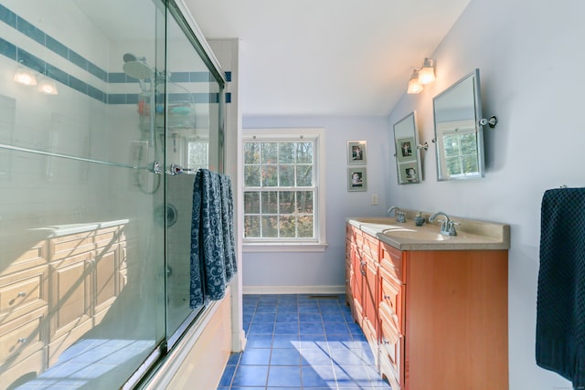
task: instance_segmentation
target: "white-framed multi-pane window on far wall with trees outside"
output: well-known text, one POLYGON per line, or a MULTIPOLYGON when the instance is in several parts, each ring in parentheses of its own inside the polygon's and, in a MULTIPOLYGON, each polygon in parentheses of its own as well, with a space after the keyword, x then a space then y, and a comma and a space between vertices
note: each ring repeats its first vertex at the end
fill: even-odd
POLYGON ((244 132, 244 243, 324 248, 323 130, 244 132))

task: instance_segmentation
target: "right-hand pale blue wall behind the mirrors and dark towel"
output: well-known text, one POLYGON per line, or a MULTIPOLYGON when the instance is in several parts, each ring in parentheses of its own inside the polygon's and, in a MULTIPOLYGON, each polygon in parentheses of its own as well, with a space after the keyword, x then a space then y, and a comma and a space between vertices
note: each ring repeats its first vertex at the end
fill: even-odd
MULTIPOLYGON (((442 210, 455 216, 511 225, 509 251, 510 389, 569 389, 569 382, 535 363, 535 328, 540 202, 561 184, 585 185, 585 4, 545 0, 472 0, 452 31, 432 53, 437 81, 420 95, 405 95, 389 122, 416 110, 420 138, 431 141, 432 97, 479 68, 484 116, 495 114, 495 130, 484 129, 487 172, 469 182, 436 182, 435 151, 424 163, 425 181, 387 190, 399 206, 442 210)), ((431 53, 429 53, 431 54, 431 53)), ((422 57, 422 56, 421 56, 422 57)))

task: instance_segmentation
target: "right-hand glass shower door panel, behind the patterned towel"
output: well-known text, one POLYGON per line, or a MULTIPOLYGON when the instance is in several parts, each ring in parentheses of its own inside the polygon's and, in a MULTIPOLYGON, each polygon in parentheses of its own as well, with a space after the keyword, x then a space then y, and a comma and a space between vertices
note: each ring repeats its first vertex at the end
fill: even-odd
MULTIPOLYGON (((190 307, 193 186, 198 169, 222 169, 220 80, 168 11, 166 41, 166 332, 172 346, 203 306, 190 307)), ((178 20, 178 21, 177 21, 178 20)))

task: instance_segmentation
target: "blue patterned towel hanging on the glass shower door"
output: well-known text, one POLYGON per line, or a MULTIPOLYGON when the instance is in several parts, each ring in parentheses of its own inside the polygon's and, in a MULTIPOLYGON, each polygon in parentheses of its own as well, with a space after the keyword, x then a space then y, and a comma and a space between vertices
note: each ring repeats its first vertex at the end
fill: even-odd
POLYGON ((231 180, 201 169, 193 185, 190 307, 221 300, 236 272, 231 180))

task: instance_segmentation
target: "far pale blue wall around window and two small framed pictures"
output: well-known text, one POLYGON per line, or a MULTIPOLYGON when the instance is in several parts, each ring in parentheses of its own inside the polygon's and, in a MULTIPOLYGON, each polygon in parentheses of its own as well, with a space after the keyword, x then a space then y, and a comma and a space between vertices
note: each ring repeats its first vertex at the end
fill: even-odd
POLYGON ((326 155, 326 237, 323 253, 244 253, 244 292, 330 292, 345 285, 346 216, 383 216, 387 177, 393 165, 388 154, 385 117, 244 117, 244 129, 324 128, 326 155), (347 141, 367 141, 367 192, 347 192, 347 141), (378 194, 378 206, 371 197, 378 194))

